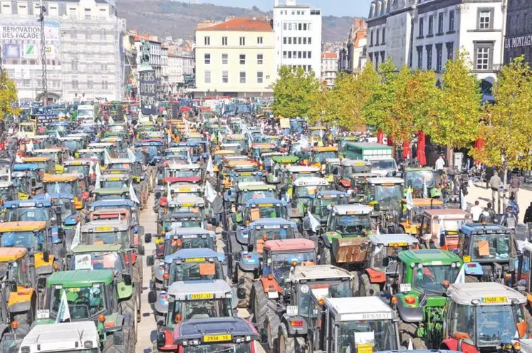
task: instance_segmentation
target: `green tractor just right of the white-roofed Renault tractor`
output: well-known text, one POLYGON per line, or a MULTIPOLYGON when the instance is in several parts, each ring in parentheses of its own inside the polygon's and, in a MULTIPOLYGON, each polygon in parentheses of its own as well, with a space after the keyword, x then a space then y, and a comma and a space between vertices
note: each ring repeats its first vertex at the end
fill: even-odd
POLYGON ((400 342, 410 340, 414 349, 438 349, 442 342, 444 293, 454 283, 461 259, 450 251, 438 249, 406 250, 399 253, 396 278, 392 288, 392 307, 400 317, 400 342))

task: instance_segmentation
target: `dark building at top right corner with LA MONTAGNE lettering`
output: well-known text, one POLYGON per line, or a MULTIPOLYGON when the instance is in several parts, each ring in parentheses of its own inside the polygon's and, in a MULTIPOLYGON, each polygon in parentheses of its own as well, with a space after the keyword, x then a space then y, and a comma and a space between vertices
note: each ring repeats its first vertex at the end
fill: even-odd
POLYGON ((522 55, 532 63, 532 1, 508 0, 504 63, 522 55))

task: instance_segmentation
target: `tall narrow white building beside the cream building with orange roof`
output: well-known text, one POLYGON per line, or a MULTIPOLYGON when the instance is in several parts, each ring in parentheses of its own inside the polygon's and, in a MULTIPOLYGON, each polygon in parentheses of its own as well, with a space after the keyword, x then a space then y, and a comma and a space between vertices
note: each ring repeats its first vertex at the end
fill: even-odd
POLYGON ((273 6, 276 76, 281 65, 313 70, 321 77, 321 10, 286 0, 273 6))

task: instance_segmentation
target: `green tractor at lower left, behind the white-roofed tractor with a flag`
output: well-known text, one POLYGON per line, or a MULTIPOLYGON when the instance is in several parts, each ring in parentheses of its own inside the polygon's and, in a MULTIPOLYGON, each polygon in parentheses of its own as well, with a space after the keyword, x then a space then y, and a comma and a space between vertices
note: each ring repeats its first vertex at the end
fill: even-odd
POLYGON ((68 317, 71 322, 93 321, 102 352, 135 352, 134 288, 129 274, 122 277, 118 280, 113 270, 53 273, 46 282, 45 302, 36 325, 62 322, 68 317))

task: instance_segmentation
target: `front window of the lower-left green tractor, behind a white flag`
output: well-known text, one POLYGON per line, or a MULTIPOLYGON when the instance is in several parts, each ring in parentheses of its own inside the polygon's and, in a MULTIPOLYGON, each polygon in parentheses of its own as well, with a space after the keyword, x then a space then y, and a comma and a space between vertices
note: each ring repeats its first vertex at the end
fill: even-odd
POLYGON ((52 289, 51 313, 57 315, 61 297, 66 294, 68 310, 72 320, 84 320, 94 317, 105 310, 105 290, 103 283, 94 283, 92 287, 52 289))

